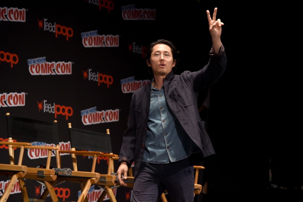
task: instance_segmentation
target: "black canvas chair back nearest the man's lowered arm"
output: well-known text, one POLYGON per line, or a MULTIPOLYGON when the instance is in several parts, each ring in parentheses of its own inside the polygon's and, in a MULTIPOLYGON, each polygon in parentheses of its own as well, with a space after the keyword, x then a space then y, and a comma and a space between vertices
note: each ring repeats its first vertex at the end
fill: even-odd
POLYGON ((68 130, 71 148, 112 153, 111 137, 109 134, 72 128, 70 125, 68 126, 68 130), (84 141, 83 138, 89 138, 89 141, 84 141))

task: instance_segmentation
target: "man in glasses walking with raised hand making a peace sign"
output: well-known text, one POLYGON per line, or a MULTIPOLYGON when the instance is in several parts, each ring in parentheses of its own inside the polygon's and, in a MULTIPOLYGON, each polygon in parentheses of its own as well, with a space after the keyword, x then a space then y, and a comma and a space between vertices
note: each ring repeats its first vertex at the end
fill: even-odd
POLYGON ((134 167, 132 202, 156 202, 167 190, 173 202, 193 202, 192 156, 214 154, 198 111, 198 92, 211 87, 226 67, 221 26, 207 10, 212 38, 210 60, 197 72, 174 75, 178 51, 173 43, 160 39, 147 49, 147 65, 154 77, 132 95, 128 128, 119 155, 118 180, 126 186, 128 168, 134 167), (123 174, 123 179, 122 179, 123 174))

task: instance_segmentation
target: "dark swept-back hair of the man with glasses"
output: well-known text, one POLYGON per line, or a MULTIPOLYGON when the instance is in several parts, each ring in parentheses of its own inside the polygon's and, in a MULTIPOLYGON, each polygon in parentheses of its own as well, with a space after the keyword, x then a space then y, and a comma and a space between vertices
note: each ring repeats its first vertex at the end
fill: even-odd
POLYGON ((147 47, 147 50, 146 50, 146 60, 148 61, 148 63, 150 63, 152 49, 157 44, 165 44, 165 45, 168 45, 171 48, 171 54, 172 54, 174 62, 176 63, 175 67, 173 67, 172 70, 175 72, 177 70, 177 64, 180 61, 179 51, 175 48, 174 44, 169 40, 158 39, 157 41, 150 43, 147 47))

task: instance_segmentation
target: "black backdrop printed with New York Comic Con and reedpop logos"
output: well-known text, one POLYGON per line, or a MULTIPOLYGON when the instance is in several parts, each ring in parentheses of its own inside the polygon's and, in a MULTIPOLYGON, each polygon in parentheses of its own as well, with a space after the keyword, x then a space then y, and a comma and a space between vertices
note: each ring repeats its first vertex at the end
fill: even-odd
MULTIPOLYGON (((212 45, 206 10, 212 15, 215 7, 217 19, 222 16, 227 22, 225 7, 203 1, 2 0, 0 140, 7 141, 5 113, 9 112, 57 120, 60 144, 66 149, 69 122, 98 132, 109 128, 113 152, 119 154, 132 93, 151 78, 144 59, 148 44, 171 40, 181 53, 176 73, 199 70, 207 64, 212 45)), ((2 156, 8 151, 0 148, 0 163, 6 162, 2 156)), ((44 162, 44 156, 36 157, 25 155, 24 161, 34 166, 44 162)), ((62 167, 71 167, 69 157, 62 156, 62 167)), ((85 169, 90 160, 83 159, 80 167, 85 169)), ((106 159, 99 164, 98 169, 104 169, 106 159)), ((0 195, 7 183, 0 178, 0 195)), ((35 196, 44 189, 37 182, 27 187, 35 196)), ((65 183, 56 189, 59 200, 72 201, 80 187, 65 183)), ((101 191, 92 187, 89 201, 96 201, 101 191)), ((117 201, 129 201, 131 190, 119 187, 115 194, 117 201)), ((16 186, 8 201, 20 199, 16 186)))

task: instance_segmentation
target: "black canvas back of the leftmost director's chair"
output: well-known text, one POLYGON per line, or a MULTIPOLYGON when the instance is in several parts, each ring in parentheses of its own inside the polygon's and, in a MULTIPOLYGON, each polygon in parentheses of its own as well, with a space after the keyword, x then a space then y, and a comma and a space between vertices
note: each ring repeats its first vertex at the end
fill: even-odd
POLYGON ((8 138, 24 142, 59 143, 58 123, 6 114, 8 138))

